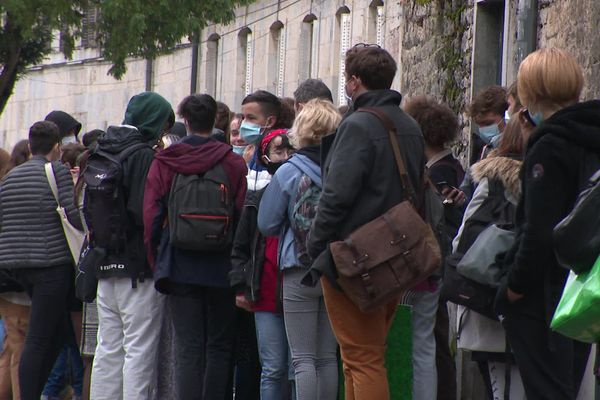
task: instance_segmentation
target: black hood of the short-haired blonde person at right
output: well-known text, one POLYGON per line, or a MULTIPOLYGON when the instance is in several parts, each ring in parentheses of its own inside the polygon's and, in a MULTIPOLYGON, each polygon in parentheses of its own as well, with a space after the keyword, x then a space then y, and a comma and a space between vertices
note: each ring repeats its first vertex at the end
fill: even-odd
POLYGON ((557 111, 534 131, 527 149, 545 135, 559 136, 591 152, 600 153, 600 100, 578 103, 557 111))

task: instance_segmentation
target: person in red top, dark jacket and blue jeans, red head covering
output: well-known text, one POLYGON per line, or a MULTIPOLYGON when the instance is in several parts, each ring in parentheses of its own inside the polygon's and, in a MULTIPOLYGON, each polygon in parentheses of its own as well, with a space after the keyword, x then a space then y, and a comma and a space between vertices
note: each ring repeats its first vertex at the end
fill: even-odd
MULTIPOLYGON (((287 130, 268 131, 259 146, 259 159, 272 175, 290 157, 292 150, 287 130)), ((277 261, 279 239, 277 236, 263 236, 257 227, 259 205, 265 189, 246 194, 231 253, 229 281, 236 291, 236 305, 240 308, 238 322, 246 322, 238 325, 237 330, 244 335, 244 342, 258 344, 262 365, 260 398, 280 400, 289 398, 284 396, 288 390, 289 350, 278 295, 281 285, 277 261), (251 317, 250 323, 244 318, 247 316, 251 317)))

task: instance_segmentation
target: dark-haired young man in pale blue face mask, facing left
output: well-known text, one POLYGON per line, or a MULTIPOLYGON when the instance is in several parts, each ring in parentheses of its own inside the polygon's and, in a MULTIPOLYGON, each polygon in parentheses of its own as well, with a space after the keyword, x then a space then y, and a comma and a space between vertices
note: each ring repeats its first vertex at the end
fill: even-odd
POLYGON ((270 181, 269 172, 258 160, 258 145, 262 135, 267 129, 289 129, 293 118, 288 121, 281 100, 265 90, 258 90, 244 98, 242 115, 244 119, 240 124, 240 137, 248 146, 253 146, 246 151, 254 151, 248 162, 248 189, 260 190, 270 181))

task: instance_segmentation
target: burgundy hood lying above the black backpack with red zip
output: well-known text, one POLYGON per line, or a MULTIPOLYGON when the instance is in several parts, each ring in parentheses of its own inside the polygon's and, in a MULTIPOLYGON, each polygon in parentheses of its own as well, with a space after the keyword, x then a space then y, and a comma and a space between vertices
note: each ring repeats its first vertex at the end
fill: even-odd
POLYGON ((180 174, 201 174, 231 153, 231 146, 209 140, 199 146, 175 143, 158 153, 155 159, 180 174))

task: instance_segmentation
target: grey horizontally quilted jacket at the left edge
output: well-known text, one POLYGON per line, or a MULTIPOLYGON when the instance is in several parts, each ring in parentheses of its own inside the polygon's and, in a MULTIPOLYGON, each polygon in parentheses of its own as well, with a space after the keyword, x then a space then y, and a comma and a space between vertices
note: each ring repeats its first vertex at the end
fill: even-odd
MULTIPOLYGON (((0 184, 0 268, 45 268, 72 263, 67 240, 46 179, 43 156, 34 156, 0 184)), ((53 162, 61 206, 73 226, 81 219, 73 204, 69 170, 53 162)))

